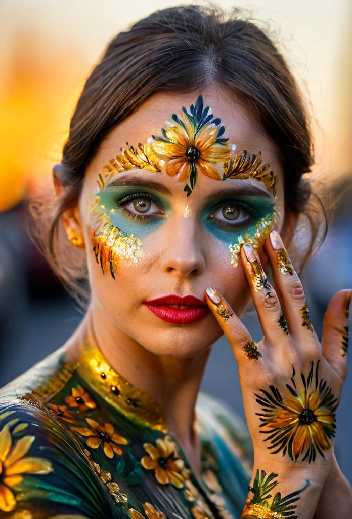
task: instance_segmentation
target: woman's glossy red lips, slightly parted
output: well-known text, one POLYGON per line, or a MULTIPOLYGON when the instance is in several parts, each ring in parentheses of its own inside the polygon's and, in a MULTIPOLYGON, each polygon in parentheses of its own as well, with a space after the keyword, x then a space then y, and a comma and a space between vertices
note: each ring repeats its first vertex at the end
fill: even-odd
POLYGON ((191 324, 210 312, 208 305, 193 295, 179 296, 170 294, 144 303, 157 317, 171 324, 191 324), (186 306, 188 308, 174 308, 171 305, 186 306))

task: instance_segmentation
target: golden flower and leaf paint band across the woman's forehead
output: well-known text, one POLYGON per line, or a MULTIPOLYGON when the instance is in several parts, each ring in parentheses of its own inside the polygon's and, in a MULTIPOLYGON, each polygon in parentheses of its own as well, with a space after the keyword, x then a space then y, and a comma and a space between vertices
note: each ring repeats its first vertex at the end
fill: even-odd
POLYGON ((224 138, 225 126, 221 119, 214 118, 211 108, 204 108, 199 95, 189 111, 183 106, 182 112, 172 114, 171 121, 165 121, 162 136, 152 136, 145 144, 121 148, 120 154, 102 168, 105 181, 117 173, 130 169, 146 169, 162 172, 166 165, 169 176, 177 176, 179 182, 187 182, 184 191, 189 196, 197 182, 198 173, 210 179, 245 180, 256 179, 265 183, 275 196, 276 177, 268 171, 269 164, 262 164, 261 153, 248 155, 246 149, 236 153, 236 145, 224 138), (215 165, 223 162, 223 175, 215 165))

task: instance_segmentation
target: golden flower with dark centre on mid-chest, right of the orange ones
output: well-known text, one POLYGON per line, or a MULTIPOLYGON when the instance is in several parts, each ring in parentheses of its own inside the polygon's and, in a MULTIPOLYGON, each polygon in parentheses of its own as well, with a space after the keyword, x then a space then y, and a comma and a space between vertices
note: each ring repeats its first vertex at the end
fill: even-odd
POLYGON ((165 436, 164 439, 158 438, 155 445, 144 443, 143 448, 149 456, 143 456, 141 466, 146 470, 154 470, 160 484, 171 483, 176 488, 183 488, 184 478, 181 471, 184 468, 184 461, 179 457, 170 436, 165 436))

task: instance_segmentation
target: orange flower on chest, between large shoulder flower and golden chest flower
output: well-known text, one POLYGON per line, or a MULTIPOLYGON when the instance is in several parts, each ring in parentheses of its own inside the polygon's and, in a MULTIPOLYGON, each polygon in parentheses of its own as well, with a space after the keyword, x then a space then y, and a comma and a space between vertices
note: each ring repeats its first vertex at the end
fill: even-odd
POLYGON ((95 420, 86 418, 85 421, 90 426, 87 427, 72 427, 74 431, 82 436, 89 436, 86 444, 92 449, 97 449, 101 445, 104 454, 108 458, 113 458, 114 454, 122 454, 122 448, 119 445, 127 445, 128 440, 120 434, 116 434, 111 424, 100 426, 95 420))

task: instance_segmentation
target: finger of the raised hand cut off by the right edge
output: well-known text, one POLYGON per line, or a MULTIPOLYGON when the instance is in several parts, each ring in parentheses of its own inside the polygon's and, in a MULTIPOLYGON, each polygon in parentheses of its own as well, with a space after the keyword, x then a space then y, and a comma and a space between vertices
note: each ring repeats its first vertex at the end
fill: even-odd
POLYGON ((348 316, 352 290, 340 290, 331 299, 322 323, 322 354, 345 379, 347 375, 348 316))

